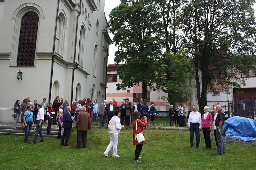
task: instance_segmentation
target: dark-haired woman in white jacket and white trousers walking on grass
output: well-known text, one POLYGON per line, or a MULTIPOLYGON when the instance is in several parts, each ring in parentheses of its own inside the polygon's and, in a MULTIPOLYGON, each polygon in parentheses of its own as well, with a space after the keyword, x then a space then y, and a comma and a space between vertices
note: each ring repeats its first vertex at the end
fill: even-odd
POLYGON ((104 156, 108 157, 108 152, 113 146, 113 157, 120 157, 116 154, 117 152, 117 144, 118 144, 118 134, 120 130, 124 127, 120 124, 120 117, 121 113, 119 109, 116 109, 114 111, 114 116, 111 118, 108 124, 108 133, 110 136, 110 143, 108 144, 108 147, 106 151, 103 153, 104 156))

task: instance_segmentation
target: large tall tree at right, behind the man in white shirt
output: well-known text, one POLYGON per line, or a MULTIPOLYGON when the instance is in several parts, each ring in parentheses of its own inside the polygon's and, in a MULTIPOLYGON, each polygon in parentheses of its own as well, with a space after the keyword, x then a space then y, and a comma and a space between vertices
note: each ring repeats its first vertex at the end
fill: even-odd
POLYGON ((255 57, 245 57, 255 54, 254 2, 190 0, 183 7, 183 42, 194 65, 200 111, 207 105, 209 90, 228 91, 231 79, 236 79, 233 86, 240 87, 244 80, 233 74, 254 69, 255 57))

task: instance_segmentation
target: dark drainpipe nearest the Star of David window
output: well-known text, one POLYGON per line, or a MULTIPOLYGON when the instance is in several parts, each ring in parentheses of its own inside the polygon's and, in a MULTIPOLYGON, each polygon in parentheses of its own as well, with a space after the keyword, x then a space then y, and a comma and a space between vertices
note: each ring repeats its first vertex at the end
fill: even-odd
POLYGON ((52 47, 52 68, 51 68, 51 77, 50 77, 50 88, 49 88, 49 103, 51 103, 51 95, 52 95, 52 76, 53 76, 53 64, 54 64, 54 57, 55 57, 55 43, 56 43, 56 33, 57 33, 57 24, 58 24, 58 16, 59 16, 59 7, 60 7, 60 0, 58 0, 57 4, 57 12, 56 12, 56 21, 55 21, 55 31, 54 31, 54 39, 53 39, 53 47, 52 47))

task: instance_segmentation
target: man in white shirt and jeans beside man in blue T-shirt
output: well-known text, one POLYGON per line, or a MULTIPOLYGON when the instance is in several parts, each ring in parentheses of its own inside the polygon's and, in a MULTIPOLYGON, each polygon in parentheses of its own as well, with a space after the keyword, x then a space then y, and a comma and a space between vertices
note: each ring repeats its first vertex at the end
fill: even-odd
POLYGON ((42 104, 37 104, 37 117, 36 117, 36 133, 35 133, 35 139, 33 142, 30 142, 29 144, 36 144, 38 134, 40 135, 40 142, 44 142, 44 136, 42 132, 42 124, 44 124, 44 108, 42 108, 42 104))

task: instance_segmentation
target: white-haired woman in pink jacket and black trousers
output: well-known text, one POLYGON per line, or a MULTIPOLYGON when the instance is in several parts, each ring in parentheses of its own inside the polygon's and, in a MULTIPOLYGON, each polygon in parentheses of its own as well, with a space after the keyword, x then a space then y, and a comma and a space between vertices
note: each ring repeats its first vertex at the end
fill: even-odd
POLYGON ((202 117, 202 131, 204 133, 205 148, 211 149, 210 133, 212 131, 212 114, 208 112, 209 107, 204 107, 204 114, 202 117))

